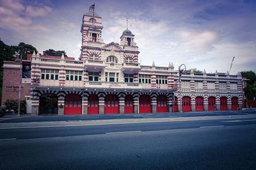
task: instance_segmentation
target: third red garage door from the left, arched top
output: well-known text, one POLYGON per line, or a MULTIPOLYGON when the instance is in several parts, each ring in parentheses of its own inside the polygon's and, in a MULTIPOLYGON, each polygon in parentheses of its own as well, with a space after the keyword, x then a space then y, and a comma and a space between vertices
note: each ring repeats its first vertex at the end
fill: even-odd
POLYGON ((105 114, 116 114, 119 112, 118 108, 118 96, 116 95, 106 95, 105 97, 105 114))

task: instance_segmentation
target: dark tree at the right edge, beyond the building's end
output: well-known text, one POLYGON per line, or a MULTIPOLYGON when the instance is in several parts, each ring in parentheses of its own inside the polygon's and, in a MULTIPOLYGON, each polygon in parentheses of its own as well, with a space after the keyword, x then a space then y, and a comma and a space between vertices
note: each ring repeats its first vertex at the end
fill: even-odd
POLYGON ((253 71, 241 72, 242 77, 249 79, 246 81, 246 87, 244 88, 245 97, 248 100, 255 100, 256 98, 256 74, 253 71))

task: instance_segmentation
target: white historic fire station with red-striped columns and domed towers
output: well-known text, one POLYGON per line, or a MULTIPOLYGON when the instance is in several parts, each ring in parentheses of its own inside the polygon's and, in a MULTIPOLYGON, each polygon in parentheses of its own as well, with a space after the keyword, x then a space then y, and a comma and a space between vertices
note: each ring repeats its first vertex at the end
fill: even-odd
MULTIPOLYGON (((240 73, 189 72, 179 81, 172 63, 166 67, 138 63, 140 52, 131 31, 122 33, 120 43, 104 43, 102 29, 102 18, 90 8, 83 15, 78 61, 35 52, 28 56, 24 62, 31 65, 31 77, 22 79, 22 98, 26 96, 32 114, 175 112, 180 110, 180 95, 182 111, 214 111, 215 104, 218 110, 242 107, 240 73)), ((10 75, 10 70, 19 72, 19 66, 4 62, 3 101, 17 97, 8 77, 18 77, 13 79, 17 88, 19 74, 10 75)))

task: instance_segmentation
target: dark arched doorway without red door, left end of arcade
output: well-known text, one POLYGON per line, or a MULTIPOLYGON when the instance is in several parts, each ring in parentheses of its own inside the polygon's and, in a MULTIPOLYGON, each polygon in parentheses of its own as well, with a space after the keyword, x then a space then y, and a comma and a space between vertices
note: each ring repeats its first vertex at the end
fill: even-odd
POLYGON ((58 114, 58 96, 44 94, 39 98, 39 114, 58 114))

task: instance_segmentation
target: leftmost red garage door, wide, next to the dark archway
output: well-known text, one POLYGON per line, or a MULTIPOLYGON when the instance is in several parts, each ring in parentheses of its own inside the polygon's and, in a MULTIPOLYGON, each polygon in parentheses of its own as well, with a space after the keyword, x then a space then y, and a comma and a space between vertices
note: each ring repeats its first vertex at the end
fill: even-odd
POLYGON ((68 94, 65 97, 64 114, 82 114, 82 97, 77 94, 68 94))

